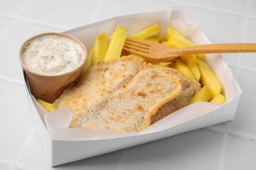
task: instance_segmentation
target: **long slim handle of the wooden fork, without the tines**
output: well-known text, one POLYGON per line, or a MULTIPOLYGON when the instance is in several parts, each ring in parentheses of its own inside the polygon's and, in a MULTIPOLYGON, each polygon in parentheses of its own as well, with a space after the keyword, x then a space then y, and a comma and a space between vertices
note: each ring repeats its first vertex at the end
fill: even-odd
POLYGON ((170 50, 171 54, 179 55, 232 52, 256 52, 256 43, 203 44, 170 50))

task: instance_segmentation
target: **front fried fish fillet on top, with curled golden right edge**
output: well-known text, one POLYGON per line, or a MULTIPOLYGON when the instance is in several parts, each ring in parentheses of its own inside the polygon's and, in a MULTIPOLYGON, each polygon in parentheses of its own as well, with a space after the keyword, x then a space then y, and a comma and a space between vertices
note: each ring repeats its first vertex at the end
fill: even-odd
POLYGON ((157 110, 181 94, 178 76, 150 63, 125 86, 75 114, 70 127, 140 131, 157 110))

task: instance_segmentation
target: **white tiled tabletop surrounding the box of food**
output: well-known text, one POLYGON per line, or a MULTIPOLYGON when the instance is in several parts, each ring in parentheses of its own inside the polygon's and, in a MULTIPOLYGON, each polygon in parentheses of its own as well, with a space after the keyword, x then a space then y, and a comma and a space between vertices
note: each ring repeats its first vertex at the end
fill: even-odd
MULTIPOLYGON (((18 49, 37 33, 181 5, 212 42, 256 42, 253 0, 0 0, 0 169, 49 167, 28 103, 18 49)), ((256 169, 256 54, 225 54, 242 97, 232 122, 56 169, 256 169)))

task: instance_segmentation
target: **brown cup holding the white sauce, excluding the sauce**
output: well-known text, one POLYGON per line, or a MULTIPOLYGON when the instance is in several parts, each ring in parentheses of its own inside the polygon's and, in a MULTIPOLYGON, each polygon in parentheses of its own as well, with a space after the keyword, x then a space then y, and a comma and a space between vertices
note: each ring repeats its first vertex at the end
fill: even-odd
POLYGON ((64 33, 42 33, 39 35, 35 35, 34 37, 28 39, 26 42, 22 44, 19 51, 19 58, 20 63, 22 63, 22 67, 24 69, 25 76, 29 82, 32 95, 36 99, 42 99, 43 101, 53 103, 56 99, 58 99, 58 97, 60 97, 61 93, 65 88, 67 88, 71 84, 74 84, 74 82, 81 74, 83 64, 85 63, 85 60, 87 58, 87 49, 85 48, 82 42, 80 42, 79 40, 75 39, 70 35, 66 35, 64 33), (42 73, 36 73, 35 71, 32 71, 32 69, 28 68, 22 61, 22 54, 26 46, 28 46, 28 43, 30 43, 34 39, 46 35, 57 35, 60 37, 66 37, 77 42, 78 44, 80 44, 84 52, 85 58, 81 61, 81 63, 79 63, 79 65, 77 65, 75 69, 69 71, 68 73, 62 73, 57 75, 44 75, 42 73))

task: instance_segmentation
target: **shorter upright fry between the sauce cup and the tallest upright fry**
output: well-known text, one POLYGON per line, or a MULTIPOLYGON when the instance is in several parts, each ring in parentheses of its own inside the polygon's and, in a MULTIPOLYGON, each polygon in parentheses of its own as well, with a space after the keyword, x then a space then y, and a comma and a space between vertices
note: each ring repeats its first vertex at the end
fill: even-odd
POLYGON ((91 58, 92 65, 103 61, 106 51, 108 50, 108 41, 106 34, 102 33, 95 38, 95 44, 93 45, 93 56, 91 58))

